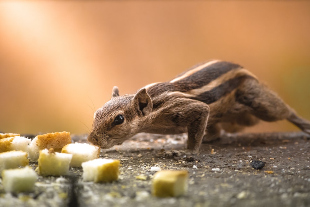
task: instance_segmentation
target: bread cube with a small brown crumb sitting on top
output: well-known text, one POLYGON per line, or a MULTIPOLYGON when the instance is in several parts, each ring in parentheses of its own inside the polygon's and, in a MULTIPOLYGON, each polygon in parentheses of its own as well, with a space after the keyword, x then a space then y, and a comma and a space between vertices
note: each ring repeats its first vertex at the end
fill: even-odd
POLYGON ((43 176, 66 175, 69 171, 71 154, 55 152, 53 148, 40 150, 38 159, 38 174, 43 176))

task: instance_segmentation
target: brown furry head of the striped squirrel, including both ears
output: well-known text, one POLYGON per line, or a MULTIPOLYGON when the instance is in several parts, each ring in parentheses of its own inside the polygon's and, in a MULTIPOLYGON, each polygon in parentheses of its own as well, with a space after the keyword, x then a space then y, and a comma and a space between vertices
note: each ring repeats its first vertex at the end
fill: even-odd
POLYGON ((120 96, 118 88, 114 86, 111 100, 94 114, 87 141, 103 149, 122 144, 139 132, 152 108, 152 100, 145 88, 135 95, 120 96))

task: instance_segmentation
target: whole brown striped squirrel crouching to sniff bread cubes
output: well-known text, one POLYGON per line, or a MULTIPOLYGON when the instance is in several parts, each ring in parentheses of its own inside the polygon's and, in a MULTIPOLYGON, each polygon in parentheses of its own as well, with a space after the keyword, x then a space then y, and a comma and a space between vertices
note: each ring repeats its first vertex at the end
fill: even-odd
POLYGON ((194 66, 169 82, 152 83, 134 95, 119 95, 96 110, 87 140, 103 149, 122 144, 137 133, 188 133, 187 152, 202 141, 236 132, 259 119, 287 119, 310 134, 300 118, 275 92, 240 65, 212 60, 194 66))

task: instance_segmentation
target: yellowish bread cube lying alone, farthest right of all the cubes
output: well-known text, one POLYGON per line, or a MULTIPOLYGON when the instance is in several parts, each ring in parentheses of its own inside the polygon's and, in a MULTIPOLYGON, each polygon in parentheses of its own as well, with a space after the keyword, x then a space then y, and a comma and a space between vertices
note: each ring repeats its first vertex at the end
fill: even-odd
POLYGON ((154 174, 152 194, 157 197, 179 197, 187 192, 188 171, 162 170, 154 174))

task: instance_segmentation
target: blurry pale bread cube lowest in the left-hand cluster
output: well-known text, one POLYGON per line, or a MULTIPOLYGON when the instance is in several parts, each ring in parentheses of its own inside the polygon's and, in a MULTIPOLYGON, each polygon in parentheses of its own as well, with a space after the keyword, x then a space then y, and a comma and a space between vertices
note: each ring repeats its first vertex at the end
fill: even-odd
POLYGON ((37 179, 37 173, 29 166, 2 171, 2 185, 6 192, 31 192, 37 179))

